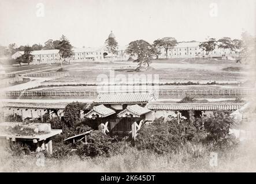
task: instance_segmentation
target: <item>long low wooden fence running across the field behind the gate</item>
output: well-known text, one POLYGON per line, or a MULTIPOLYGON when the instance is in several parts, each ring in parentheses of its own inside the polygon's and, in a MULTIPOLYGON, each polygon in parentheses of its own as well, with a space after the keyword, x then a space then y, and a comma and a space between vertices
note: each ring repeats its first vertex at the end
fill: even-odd
MULTIPOLYGON (((103 91, 102 91, 103 92, 103 91)), ((105 93, 118 93, 120 91, 106 91, 105 93)), ((124 91, 123 91, 124 92, 124 91)), ((146 92, 146 91, 125 91, 125 92, 146 92)), ((28 90, 28 91, 6 91, 2 95, 6 98, 16 97, 95 97, 97 90, 28 90)), ((254 93, 254 89, 159 89, 155 94, 159 97, 209 97, 225 98, 239 97, 254 93)))

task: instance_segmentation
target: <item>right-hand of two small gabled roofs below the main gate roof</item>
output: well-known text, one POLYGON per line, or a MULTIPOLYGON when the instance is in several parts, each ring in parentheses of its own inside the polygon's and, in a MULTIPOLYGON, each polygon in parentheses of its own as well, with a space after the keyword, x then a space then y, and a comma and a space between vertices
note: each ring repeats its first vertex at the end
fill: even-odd
POLYGON ((117 114, 117 117, 125 117, 129 114, 132 114, 133 116, 142 116, 143 114, 149 113, 151 110, 147 108, 143 108, 142 106, 139 106, 138 104, 127 106, 126 109, 121 111, 117 114))

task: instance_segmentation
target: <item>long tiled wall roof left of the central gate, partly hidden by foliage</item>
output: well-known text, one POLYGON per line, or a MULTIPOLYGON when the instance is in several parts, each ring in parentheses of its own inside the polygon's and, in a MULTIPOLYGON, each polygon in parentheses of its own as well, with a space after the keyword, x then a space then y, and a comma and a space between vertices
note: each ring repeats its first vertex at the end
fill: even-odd
MULTIPOLYGON (((6 102, 1 104, 6 108, 28 108, 28 109, 65 109, 67 104, 35 104, 21 102, 6 102)), ((84 109, 91 109, 92 104, 87 104, 84 109)))

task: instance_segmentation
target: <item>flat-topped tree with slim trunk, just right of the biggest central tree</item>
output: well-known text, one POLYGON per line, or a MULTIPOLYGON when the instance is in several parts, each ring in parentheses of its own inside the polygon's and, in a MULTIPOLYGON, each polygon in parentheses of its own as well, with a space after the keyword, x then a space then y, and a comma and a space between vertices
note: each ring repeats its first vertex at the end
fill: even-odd
POLYGON ((173 37, 164 37, 154 41, 154 46, 165 49, 166 59, 168 59, 168 50, 177 45, 177 40, 173 37))

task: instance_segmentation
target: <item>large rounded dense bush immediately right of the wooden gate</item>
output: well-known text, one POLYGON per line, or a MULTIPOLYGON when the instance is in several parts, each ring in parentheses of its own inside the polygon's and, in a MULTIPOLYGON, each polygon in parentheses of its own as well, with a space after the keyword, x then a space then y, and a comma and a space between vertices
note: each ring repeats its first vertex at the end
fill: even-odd
POLYGON ((174 152, 187 141, 201 141, 206 136, 203 129, 199 129, 194 122, 172 118, 164 121, 155 120, 150 125, 143 126, 136 137, 136 147, 139 150, 152 150, 158 154, 174 152))

